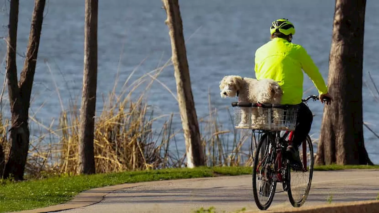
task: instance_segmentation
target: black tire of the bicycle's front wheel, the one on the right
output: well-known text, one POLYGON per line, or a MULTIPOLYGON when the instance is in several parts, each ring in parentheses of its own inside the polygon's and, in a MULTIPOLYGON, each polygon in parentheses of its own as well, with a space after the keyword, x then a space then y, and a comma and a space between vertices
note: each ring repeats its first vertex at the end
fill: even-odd
MULTIPOLYGON (((304 143, 304 142, 303 142, 304 143)), ((307 187, 305 188, 305 191, 304 191, 304 194, 301 196, 300 199, 296 200, 294 199, 293 197, 293 193, 292 193, 292 186, 291 186, 291 183, 290 183, 290 188, 288 189, 287 191, 287 194, 288 194, 288 199, 290 200, 290 203, 293 207, 301 207, 305 201, 307 200, 307 197, 309 195, 309 191, 310 191, 310 187, 312 185, 312 177, 313 177, 313 164, 314 164, 314 157, 313 157, 313 146, 312 146, 312 141, 309 137, 309 135, 307 136, 307 138, 305 139, 305 143, 306 145, 309 147, 309 154, 310 154, 310 162, 309 162, 309 179, 308 179, 308 183, 307 183, 307 187)), ((299 147, 300 150, 302 150, 302 146, 299 147)), ((302 158, 301 158, 302 160, 302 158)), ((291 170, 290 170, 291 171, 291 170)), ((292 180, 293 178, 291 177, 292 172, 290 172, 290 180, 292 180)))

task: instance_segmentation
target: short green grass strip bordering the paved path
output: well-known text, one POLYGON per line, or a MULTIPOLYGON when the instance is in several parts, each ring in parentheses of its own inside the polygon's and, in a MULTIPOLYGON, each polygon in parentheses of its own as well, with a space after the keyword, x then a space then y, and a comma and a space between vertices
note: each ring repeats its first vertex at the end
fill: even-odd
MULTIPOLYGON (((374 168, 379 168, 379 165, 316 166, 315 170, 329 171, 374 168)), ((61 204, 67 202, 81 191, 102 186, 154 180, 244 175, 251 174, 251 171, 251 167, 199 167, 194 169, 176 168, 95 175, 60 176, 16 183, 0 180, 0 212, 28 210, 61 204)))

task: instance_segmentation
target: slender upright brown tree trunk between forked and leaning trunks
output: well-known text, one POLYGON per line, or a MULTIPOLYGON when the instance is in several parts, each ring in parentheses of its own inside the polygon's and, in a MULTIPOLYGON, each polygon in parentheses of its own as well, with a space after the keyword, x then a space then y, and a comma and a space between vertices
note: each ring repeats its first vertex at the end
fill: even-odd
POLYGON ((95 173, 94 127, 97 85, 98 0, 86 0, 83 92, 80 108, 79 165, 81 174, 95 173))

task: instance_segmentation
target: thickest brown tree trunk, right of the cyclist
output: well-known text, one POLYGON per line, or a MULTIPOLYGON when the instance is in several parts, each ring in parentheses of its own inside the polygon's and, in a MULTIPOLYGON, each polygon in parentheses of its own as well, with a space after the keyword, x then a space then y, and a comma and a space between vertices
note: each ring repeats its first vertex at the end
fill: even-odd
POLYGON ((366 0, 336 0, 329 93, 316 164, 373 164, 363 143, 362 67, 366 0))

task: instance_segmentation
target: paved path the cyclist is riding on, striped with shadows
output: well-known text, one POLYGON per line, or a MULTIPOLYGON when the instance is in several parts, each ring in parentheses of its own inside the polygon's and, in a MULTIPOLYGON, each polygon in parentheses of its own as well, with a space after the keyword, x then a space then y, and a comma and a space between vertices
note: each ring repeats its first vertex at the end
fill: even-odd
MULTIPOLYGON (((122 190, 110 192, 97 204, 60 212, 180 213, 211 206, 219 210, 217 212, 236 211, 243 207, 257 210, 251 185, 251 175, 130 184, 122 190)), ((278 184, 277 188, 281 190, 281 185, 278 184)), ((103 192, 99 190, 99 193, 103 192)), ((332 202, 336 203, 373 200, 378 193, 379 170, 315 171, 304 206, 327 204, 330 194, 333 195, 332 202)), ((269 210, 284 207, 291 207, 287 194, 275 194, 269 210)))

